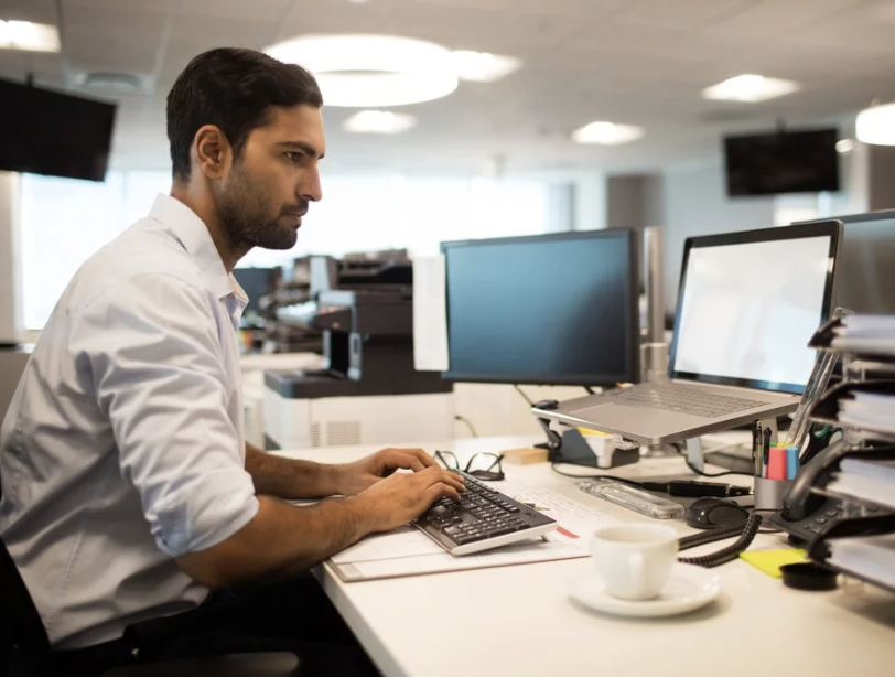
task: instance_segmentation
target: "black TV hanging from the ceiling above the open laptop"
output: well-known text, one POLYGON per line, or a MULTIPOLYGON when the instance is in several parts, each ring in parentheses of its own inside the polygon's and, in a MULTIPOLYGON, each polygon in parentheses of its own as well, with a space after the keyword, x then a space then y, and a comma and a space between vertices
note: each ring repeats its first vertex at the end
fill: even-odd
POLYGON ((726 137, 727 195, 838 191, 838 140, 835 129, 726 137))

